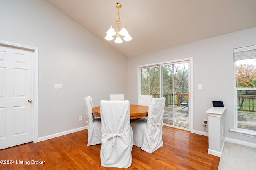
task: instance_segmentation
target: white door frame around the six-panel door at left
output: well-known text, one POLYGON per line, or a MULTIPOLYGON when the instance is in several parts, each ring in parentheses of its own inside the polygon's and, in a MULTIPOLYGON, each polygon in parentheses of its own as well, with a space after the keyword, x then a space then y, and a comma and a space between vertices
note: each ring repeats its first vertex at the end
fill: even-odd
POLYGON ((0 40, 0 45, 2 46, 8 46, 8 47, 13 47, 13 48, 18 48, 18 49, 25 49, 29 51, 33 51, 33 67, 32 67, 32 72, 33 72, 33 77, 32 77, 32 82, 33 82, 33 142, 38 142, 38 47, 32 47, 28 45, 22 45, 18 43, 12 43, 8 41, 2 41, 0 40))

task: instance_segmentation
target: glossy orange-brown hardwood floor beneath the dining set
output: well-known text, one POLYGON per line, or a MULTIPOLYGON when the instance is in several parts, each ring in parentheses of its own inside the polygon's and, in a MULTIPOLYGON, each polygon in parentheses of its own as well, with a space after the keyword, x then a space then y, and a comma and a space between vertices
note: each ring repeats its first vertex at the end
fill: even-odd
MULTIPOLYGON (((217 170, 208 137, 163 126, 164 146, 152 154, 133 146, 128 170, 217 170)), ((0 150, 1 170, 115 170, 100 166, 100 146, 87 147, 87 130, 0 150), (40 162, 36 162, 40 161, 40 162)))

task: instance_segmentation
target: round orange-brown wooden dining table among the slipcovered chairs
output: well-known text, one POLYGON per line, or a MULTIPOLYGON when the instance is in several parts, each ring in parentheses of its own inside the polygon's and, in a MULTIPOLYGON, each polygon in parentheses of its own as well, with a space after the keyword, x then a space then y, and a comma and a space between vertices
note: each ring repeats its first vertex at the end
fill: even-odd
MULTIPOLYGON (((130 104, 130 119, 137 119, 148 116, 148 106, 130 104)), ((92 109, 92 114, 96 117, 100 117, 100 106, 92 109)))

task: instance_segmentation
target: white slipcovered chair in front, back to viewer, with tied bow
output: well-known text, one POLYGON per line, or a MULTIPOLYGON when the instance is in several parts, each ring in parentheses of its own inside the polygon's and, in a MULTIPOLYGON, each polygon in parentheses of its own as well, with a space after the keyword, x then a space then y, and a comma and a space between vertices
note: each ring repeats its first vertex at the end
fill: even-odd
POLYGON ((100 164, 128 168, 132 164, 133 133, 130 127, 130 102, 100 101, 100 164))

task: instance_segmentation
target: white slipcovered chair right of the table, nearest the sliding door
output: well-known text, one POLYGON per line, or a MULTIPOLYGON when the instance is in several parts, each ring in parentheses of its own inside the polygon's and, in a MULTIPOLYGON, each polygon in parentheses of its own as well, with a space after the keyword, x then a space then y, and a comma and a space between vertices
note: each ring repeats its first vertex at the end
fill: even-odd
POLYGON ((148 119, 137 119, 131 122, 133 145, 152 153, 163 146, 162 116, 165 98, 153 98, 148 109, 148 119))

